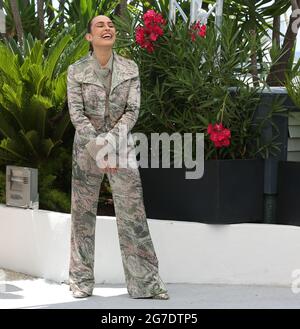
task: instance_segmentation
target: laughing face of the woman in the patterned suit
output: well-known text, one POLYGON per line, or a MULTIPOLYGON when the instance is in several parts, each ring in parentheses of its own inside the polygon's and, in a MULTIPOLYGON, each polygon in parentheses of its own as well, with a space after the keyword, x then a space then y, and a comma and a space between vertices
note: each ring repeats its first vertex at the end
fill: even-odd
POLYGON ((86 39, 94 47, 112 48, 116 41, 116 28, 109 17, 99 15, 93 18, 91 23, 91 33, 86 34, 86 39))

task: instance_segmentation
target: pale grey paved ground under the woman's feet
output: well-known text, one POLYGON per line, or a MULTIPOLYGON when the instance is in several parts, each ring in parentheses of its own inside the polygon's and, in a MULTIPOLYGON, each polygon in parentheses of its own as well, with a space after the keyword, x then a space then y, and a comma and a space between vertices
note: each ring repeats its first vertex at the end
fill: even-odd
POLYGON ((93 296, 76 299, 66 284, 1 269, 0 273, 2 309, 300 308, 300 293, 293 293, 289 287, 169 283, 169 300, 151 300, 130 298, 122 284, 99 284, 93 296))

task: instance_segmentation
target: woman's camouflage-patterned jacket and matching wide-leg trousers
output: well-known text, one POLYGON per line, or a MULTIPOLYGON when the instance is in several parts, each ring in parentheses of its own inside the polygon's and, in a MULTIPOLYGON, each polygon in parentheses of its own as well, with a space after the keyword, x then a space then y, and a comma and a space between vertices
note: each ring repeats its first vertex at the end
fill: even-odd
MULTIPOLYGON (((68 68, 67 90, 71 122, 75 127, 72 154, 70 288, 92 294, 97 205, 101 182, 107 174, 114 200, 116 223, 127 290, 132 298, 167 292, 158 273, 138 168, 103 173, 87 151, 87 144, 102 135, 108 142, 118 137, 120 125, 129 135, 140 107, 137 64, 113 50, 105 66, 111 68, 111 86, 89 52, 68 68)), ((129 138, 128 150, 134 150, 129 138)))

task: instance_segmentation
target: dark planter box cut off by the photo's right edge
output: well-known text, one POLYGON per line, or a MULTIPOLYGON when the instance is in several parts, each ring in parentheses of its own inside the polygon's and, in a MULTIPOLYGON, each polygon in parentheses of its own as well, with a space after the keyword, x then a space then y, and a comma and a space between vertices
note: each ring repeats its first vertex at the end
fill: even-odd
POLYGON ((277 224, 300 226, 300 162, 280 161, 277 224))

